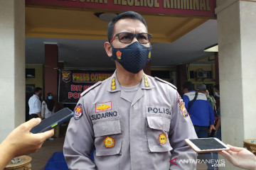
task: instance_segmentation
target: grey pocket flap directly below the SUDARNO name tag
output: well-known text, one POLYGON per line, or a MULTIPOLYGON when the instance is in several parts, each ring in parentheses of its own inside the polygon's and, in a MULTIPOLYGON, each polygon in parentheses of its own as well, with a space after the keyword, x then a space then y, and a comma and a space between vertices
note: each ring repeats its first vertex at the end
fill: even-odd
POLYGON ((120 120, 97 122, 93 125, 95 137, 121 133, 120 120))

